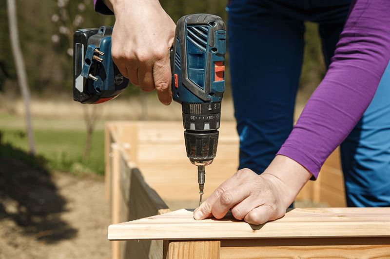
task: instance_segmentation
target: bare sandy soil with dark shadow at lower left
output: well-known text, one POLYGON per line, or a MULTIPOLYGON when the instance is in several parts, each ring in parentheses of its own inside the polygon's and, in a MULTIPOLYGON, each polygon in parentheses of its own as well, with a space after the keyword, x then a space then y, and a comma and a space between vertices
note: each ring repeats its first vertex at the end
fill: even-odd
POLYGON ((2 200, 0 259, 110 258, 110 213, 102 178, 55 173, 40 179, 39 188, 28 188, 30 197, 24 199, 34 203, 39 196, 37 204, 2 200), (20 210, 30 215, 23 218, 20 210))

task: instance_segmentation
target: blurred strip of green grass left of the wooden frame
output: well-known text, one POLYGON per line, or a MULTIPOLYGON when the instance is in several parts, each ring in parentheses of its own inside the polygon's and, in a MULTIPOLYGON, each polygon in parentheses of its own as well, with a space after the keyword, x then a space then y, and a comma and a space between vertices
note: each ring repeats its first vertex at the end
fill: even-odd
POLYGON ((38 157, 28 155, 18 157, 18 154, 28 151, 26 134, 23 129, 2 129, 1 135, 0 157, 3 159, 22 159, 37 166, 42 166, 44 162, 50 169, 66 172, 104 174, 104 159, 102 159, 104 157, 104 132, 102 130, 96 130, 92 135, 94 148, 91 149, 89 159, 85 163, 81 161, 86 138, 84 130, 35 129, 38 157), (13 150, 18 152, 13 152, 13 150))

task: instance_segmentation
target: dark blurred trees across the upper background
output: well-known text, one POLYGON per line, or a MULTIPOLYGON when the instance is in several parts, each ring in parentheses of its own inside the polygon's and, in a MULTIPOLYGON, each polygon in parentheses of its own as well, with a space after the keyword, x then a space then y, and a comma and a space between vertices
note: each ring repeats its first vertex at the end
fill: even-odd
MULTIPOLYGON (((161 5, 178 20, 190 13, 212 13, 226 20, 226 0, 160 0, 161 5)), ((78 28, 113 25, 114 17, 94 12, 93 0, 17 0, 20 43, 27 66, 31 91, 35 95, 71 95, 73 32, 78 28)), ((13 57, 9 44, 6 0, 0 0, 0 89, 19 95, 13 57)), ((147 26, 147 25, 146 25, 147 26)), ((307 23, 305 61, 301 90, 309 94, 324 75, 317 26, 307 23)), ((228 57, 227 57, 228 59, 228 57)), ((226 96, 230 95, 227 77, 226 96)), ((129 87, 125 95, 139 93, 129 87), (130 90, 131 89, 131 90, 130 90)), ((70 98, 70 97, 69 97, 70 98)))

